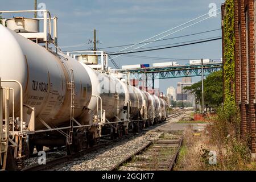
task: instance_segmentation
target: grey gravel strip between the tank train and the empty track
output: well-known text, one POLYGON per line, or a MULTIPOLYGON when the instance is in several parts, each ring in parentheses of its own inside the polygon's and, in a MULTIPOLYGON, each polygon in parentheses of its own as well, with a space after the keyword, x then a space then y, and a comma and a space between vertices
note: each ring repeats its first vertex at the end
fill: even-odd
POLYGON ((101 148, 92 154, 86 154, 82 158, 75 159, 67 166, 60 168, 60 171, 99 171, 109 170, 127 156, 134 154, 139 148, 146 146, 151 140, 158 140, 161 132, 147 131, 135 135, 129 139, 118 141, 110 146, 101 148))

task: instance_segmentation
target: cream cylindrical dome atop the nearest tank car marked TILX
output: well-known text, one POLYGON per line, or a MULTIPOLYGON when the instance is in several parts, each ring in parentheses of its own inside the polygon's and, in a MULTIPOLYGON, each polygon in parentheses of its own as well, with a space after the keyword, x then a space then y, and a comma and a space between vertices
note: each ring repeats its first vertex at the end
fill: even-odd
POLYGON ((39 20, 15 17, 6 20, 6 26, 15 32, 39 32, 39 20))

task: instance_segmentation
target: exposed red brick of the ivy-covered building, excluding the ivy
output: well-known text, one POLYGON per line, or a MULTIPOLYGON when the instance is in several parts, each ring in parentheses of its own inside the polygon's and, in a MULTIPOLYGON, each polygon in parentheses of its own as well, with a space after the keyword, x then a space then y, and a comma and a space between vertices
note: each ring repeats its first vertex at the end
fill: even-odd
MULTIPOLYGON (((234 51, 234 80, 236 105, 241 113, 241 135, 251 137, 251 152, 256 157, 255 131, 255 20, 256 0, 233 0, 234 2, 234 36, 236 39, 234 51)), ((222 38, 224 38, 224 19, 226 3, 222 5, 222 38)), ((222 39, 223 40, 223 39, 222 39)), ((223 50, 225 48, 222 41, 223 50)), ((225 63, 225 57, 223 62, 225 63)), ((225 72, 225 69, 224 69, 225 72)), ((225 74, 225 73, 224 73, 225 74)), ((232 88, 231 88, 232 89, 232 88)), ((232 92, 234 91, 232 90, 232 92)), ((225 96, 224 96, 225 97, 225 96)))

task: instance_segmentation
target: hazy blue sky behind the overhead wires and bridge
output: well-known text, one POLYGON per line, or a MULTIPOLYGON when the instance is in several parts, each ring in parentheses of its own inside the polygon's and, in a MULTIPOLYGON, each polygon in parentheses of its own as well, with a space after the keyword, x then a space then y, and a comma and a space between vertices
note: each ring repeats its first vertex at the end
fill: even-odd
MULTIPOLYGON (((96 28, 97 38, 101 42, 97 46, 101 48, 140 42, 208 13, 210 3, 216 3, 218 8, 224 0, 38 0, 38 3, 41 2, 46 4, 52 15, 56 15, 59 18, 59 46, 72 46, 88 42, 93 37, 92 30, 96 28)), ((1 0, 0 9, 31 10, 34 9, 34 0, 1 0)), ((7 14, 2 16, 8 17, 7 14)), ((168 38, 217 28, 221 28, 221 15, 177 32, 168 38)), ((152 43, 148 46, 159 46, 216 36, 221 36, 221 31, 166 40, 152 43)), ((88 49, 89 47, 91 46, 85 44, 82 47, 63 48, 63 50, 88 49)), ((119 51, 119 49, 121 48, 106 49, 106 51, 114 52, 119 51)), ((180 59, 200 59, 201 57, 205 59, 220 59, 222 56, 221 40, 161 51, 136 53, 135 55, 180 59)), ((115 59, 115 62, 121 67, 121 65, 127 64, 150 64, 163 61, 120 56, 115 59)), ((177 62, 179 64, 187 63, 186 61, 177 62)), ((160 80, 159 87, 161 92, 166 93, 168 86, 176 86, 177 81, 180 80, 181 78, 160 80)), ((192 78, 192 81, 195 82, 199 80, 200 77, 192 78)))

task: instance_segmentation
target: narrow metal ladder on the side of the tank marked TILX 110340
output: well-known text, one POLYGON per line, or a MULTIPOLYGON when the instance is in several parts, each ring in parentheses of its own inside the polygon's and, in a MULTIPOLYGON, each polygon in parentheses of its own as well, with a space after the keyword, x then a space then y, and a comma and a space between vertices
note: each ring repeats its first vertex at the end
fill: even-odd
POLYGON ((71 90, 71 107, 70 107, 70 129, 68 134, 68 142, 67 144, 72 144, 73 137, 73 126, 74 126, 74 113, 75 113, 75 81, 74 81, 74 73, 73 69, 71 69, 71 82, 68 83, 69 89, 71 90))

